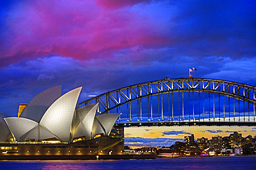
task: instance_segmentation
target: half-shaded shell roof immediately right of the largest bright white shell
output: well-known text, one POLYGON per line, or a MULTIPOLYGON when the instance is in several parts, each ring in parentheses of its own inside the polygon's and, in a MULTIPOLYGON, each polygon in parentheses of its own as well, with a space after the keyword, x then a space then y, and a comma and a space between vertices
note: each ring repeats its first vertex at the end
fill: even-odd
POLYGON ((91 131, 93 128, 93 120, 95 117, 98 103, 86 105, 76 110, 75 133, 73 138, 85 136, 87 140, 91 139, 91 131))

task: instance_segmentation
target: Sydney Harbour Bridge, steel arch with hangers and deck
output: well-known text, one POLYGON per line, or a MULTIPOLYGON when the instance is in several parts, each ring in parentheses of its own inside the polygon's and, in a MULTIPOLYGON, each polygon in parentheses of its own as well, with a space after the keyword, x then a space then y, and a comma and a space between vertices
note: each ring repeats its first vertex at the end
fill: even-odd
POLYGON ((209 78, 164 78, 122 87, 80 103, 120 113, 116 125, 255 126, 256 87, 209 78))

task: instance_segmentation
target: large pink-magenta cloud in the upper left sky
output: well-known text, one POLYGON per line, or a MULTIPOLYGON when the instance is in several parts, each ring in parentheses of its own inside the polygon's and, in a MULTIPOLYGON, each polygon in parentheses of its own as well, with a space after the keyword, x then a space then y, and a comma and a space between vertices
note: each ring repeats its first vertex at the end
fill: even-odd
POLYGON ((6 62, 0 67, 48 54, 87 60, 107 52, 111 57, 112 50, 165 41, 147 15, 130 8, 106 10, 95 1, 29 1, 8 15, 9 43, 1 49, 6 62))

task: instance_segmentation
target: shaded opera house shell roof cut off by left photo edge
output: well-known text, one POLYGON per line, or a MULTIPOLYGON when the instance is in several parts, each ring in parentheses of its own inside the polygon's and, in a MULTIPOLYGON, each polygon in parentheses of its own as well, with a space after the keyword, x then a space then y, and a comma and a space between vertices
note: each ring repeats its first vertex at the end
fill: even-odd
POLYGON ((12 138, 8 125, 6 124, 6 121, 3 120, 3 118, 7 117, 10 116, 8 114, 3 114, 2 112, 0 112, 0 142, 4 142, 8 138, 12 138))

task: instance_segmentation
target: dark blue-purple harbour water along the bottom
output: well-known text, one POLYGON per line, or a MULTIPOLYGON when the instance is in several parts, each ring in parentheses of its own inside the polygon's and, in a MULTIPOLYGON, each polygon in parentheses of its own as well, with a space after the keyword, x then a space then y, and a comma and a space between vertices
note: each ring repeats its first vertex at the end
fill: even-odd
POLYGON ((0 169, 256 169, 256 156, 181 157, 153 160, 1 160, 0 169))

